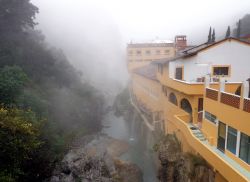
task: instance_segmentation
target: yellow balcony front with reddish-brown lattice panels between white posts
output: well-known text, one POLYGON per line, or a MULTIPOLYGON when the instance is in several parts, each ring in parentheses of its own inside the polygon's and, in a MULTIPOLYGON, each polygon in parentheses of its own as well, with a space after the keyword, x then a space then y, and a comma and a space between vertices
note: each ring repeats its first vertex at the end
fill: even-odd
POLYGON ((250 133, 250 99, 228 92, 206 88, 204 110, 215 115, 220 121, 250 133))

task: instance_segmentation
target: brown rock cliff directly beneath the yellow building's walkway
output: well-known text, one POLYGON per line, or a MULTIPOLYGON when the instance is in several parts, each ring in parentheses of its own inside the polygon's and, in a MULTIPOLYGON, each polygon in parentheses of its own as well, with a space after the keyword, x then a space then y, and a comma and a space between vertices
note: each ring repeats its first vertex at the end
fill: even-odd
POLYGON ((174 135, 167 135, 158 145, 161 182, 214 182, 215 174, 200 156, 183 153, 174 135))

